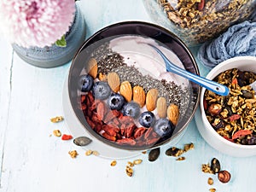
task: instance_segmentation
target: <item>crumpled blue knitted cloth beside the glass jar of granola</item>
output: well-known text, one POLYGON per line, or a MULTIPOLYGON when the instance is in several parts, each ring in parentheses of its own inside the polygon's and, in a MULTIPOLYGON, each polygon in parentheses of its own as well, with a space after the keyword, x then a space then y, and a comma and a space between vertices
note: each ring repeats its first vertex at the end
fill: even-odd
POLYGON ((212 68, 222 61, 242 55, 256 56, 256 22, 246 20, 230 26, 218 38, 202 44, 197 58, 212 68))

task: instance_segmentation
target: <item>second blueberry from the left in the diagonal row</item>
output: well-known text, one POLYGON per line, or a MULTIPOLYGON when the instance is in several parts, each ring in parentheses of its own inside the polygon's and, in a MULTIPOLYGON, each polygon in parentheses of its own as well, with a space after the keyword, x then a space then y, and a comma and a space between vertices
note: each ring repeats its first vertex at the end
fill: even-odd
POLYGON ((92 87, 92 94, 96 99, 107 99, 111 93, 111 89, 107 82, 98 81, 92 87))

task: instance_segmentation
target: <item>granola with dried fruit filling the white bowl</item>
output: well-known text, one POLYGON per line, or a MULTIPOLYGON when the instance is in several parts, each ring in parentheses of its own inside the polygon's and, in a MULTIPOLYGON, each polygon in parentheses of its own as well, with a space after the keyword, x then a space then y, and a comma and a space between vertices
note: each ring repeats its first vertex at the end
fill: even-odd
POLYGON ((213 129, 230 142, 256 144, 256 97, 249 86, 256 80, 256 74, 233 68, 213 80, 230 89, 229 96, 205 92, 204 108, 213 129))

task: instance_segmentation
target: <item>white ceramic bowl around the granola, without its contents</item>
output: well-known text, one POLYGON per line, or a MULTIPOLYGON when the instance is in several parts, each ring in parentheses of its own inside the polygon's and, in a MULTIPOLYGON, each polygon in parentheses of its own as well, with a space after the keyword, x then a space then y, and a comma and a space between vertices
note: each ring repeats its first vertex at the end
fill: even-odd
MULTIPOLYGON (((256 57, 253 56, 240 56, 223 61, 214 67, 210 73, 207 74, 207 79, 214 79, 219 73, 222 73, 231 68, 238 68, 241 71, 251 71, 256 73, 256 57)), ((200 110, 201 114, 197 116, 197 127, 201 136, 207 141, 212 148, 218 151, 236 157, 247 157, 256 155, 256 145, 240 145, 231 143, 218 135, 217 131, 212 128, 212 125, 207 120, 207 116, 203 107, 203 98, 206 89, 201 90, 200 97, 200 110), (200 121, 200 122, 199 122, 200 121), (202 122, 201 122, 202 121, 202 122), (201 124, 202 123, 202 124, 201 124)))

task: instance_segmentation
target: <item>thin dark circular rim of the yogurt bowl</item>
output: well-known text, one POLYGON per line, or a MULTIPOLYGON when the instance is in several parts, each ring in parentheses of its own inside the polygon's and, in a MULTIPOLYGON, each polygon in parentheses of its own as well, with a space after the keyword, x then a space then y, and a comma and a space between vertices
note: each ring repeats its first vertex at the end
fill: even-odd
MULTIPOLYGON (((72 60, 72 63, 71 63, 71 66, 69 68, 69 72, 68 72, 68 79, 67 79, 67 89, 69 88, 69 84, 70 84, 70 78, 71 78, 71 70, 74 66, 74 63, 76 61, 76 58, 77 56, 79 55, 79 53, 81 52, 81 50, 83 50, 85 47, 88 46, 88 44, 90 44, 90 41, 95 38, 96 36, 98 36, 99 34, 101 34, 102 32, 106 32, 108 31, 109 28, 112 28, 114 26, 123 26, 123 25, 146 25, 146 26, 153 26, 154 28, 157 28, 159 29, 160 31, 162 32, 166 32, 170 37, 172 37, 178 44, 180 44, 182 46, 182 48, 185 50, 185 52, 189 55, 189 58, 191 59, 192 63, 193 63, 193 66, 195 67, 195 73, 197 75, 200 75, 200 71, 199 71, 199 68, 198 68, 198 65, 195 61, 195 57, 194 55, 192 55, 192 53, 190 52, 189 48, 187 47, 186 44, 183 43, 183 41, 177 37, 177 35, 175 35, 173 32, 170 32, 169 30, 167 30, 166 28, 162 27, 162 26, 158 26, 154 23, 150 23, 150 22, 147 22, 147 21, 140 21, 140 20, 131 20, 131 21, 121 21, 121 22, 117 22, 117 23, 113 23, 109 26, 105 26, 103 27, 102 29, 98 30, 97 32, 93 33, 90 38, 87 38, 85 41, 84 41, 84 44, 82 44, 80 46, 80 48, 78 49, 78 51, 76 52, 76 54, 73 56, 73 60, 72 60)), ((111 36, 110 36, 111 37, 111 36)), ((167 45, 166 45, 167 46, 167 45)), ((168 47, 168 46, 167 46, 168 47)), ((192 84, 195 84, 193 82, 191 82, 192 84)), ((76 114, 75 110, 74 110, 74 106, 73 106, 73 102, 72 102, 72 97, 70 95, 71 91, 68 89, 68 96, 69 96, 69 100, 72 104, 72 109, 73 109, 73 112, 76 114)), ((170 143, 172 140, 174 140, 176 137, 179 137, 181 132, 185 131, 185 129, 187 128, 187 126, 189 125, 189 123, 191 122, 191 120, 194 118, 195 116, 195 111, 196 109, 198 108, 199 106, 199 102, 200 102, 200 95, 201 95, 201 86, 198 85, 198 92, 196 94, 196 101, 195 101, 195 108, 193 108, 193 111, 189 117, 189 119, 187 120, 187 122, 180 128, 179 131, 176 132, 176 134, 172 137, 169 137, 167 138, 166 140, 160 142, 160 143, 157 143, 157 144, 154 144, 154 146, 143 146, 143 147, 136 147, 136 148, 133 148, 133 147, 129 147, 129 146, 125 146, 125 145, 119 145, 119 144, 115 144, 115 143, 112 143, 111 141, 108 141, 107 139, 103 138, 102 136, 100 136, 99 134, 97 134, 96 132, 93 132, 93 131, 89 131, 87 127, 85 127, 83 125, 83 123, 81 122, 81 120, 77 117, 77 119, 79 119, 79 122, 81 123, 81 125, 84 126, 84 129, 86 131, 88 131, 88 133, 90 133, 90 135, 93 135, 93 137, 95 137, 97 140, 99 140, 100 142, 102 143, 107 143, 108 146, 111 146, 111 147, 114 147, 114 148, 119 148, 119 149, 124 149, 124 150, 131 150, 131 151, 141 151, 141 150, 148 150, 150 148, 157 148, 157 147, 160 147, 162 145, 165 145, 166 143, 170 143), (106 140, 106 141, 105 141, 106 140)), ((77 115, 76 115, 77 116, 77 115)))

